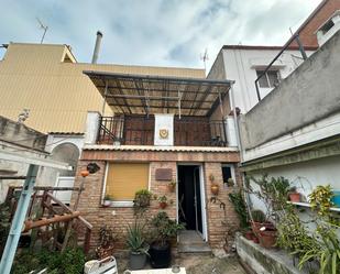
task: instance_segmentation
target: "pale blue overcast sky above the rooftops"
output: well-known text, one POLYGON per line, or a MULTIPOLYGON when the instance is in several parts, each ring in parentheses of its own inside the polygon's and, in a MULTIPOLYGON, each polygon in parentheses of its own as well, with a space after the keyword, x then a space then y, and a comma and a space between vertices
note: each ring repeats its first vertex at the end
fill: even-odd
POLYGON ((96 32, 103 33, 98 63, 208 67, 223 44, 283 45, 320 0, 0 0, 0 43, 69 44, 90 62, 96 32))

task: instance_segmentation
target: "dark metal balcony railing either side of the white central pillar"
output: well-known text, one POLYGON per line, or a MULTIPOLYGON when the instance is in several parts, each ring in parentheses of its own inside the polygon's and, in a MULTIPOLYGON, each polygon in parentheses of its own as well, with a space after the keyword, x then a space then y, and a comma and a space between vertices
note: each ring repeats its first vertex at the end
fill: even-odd
MULTIPOLYGON (((101 117, 97 143, 153 145, 154 128, 153 117, 101 117)), ((174 145, 227 146, 226 123, 208 118, 175 118, 174 145)))

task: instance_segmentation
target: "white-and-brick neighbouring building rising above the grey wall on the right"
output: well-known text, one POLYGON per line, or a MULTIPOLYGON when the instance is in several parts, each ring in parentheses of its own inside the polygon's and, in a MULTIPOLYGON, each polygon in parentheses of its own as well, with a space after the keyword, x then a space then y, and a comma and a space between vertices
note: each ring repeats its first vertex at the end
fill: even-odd
MULTIPOLYGON (((307 56, 339 30, 339 0, 323 0, 294 33, 293 36, 298 34, 307 56)), ((267 96, 304 62, 297 42, 293 41, 271 68, 264 72, 282 48, 283 46, 224 45, 208 78, 235 80, 234 103, 241 113, 246 113, 259 102, 259 97, 261 100, 267 96), (261 77, 257 83, 259 96, 254 83, 257 77, 261 77)))

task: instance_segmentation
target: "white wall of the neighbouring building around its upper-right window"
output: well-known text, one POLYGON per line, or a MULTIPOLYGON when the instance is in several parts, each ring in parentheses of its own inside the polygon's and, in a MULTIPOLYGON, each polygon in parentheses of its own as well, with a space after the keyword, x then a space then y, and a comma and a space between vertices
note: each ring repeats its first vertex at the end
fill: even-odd
MULTIPOLYGON (((279 51, 275 50, 222 50, 227 79, 235 80, 235 106, 246 113, 257 103, 254 80, 256 67, 266 67, 279 51)), ((314 52, 306 52, 307 56, 314 52)), ((299 51, 286 51, 274 63, 279 68, 281 78, 286 78, 301 63, 299 51), (294 57, 297 56, 297 57, 294 57)), ((260 88, 261 97, 265 97, 272 88, 260 88)))

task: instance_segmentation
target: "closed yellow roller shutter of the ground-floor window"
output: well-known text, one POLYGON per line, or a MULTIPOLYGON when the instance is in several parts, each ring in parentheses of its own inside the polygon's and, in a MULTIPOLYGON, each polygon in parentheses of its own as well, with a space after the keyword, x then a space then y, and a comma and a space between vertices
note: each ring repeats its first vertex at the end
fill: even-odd
POLYGON ((149 164, 110 163, 106 195, 113 200, 133 200, 135 191, 147 189, 149 164))

